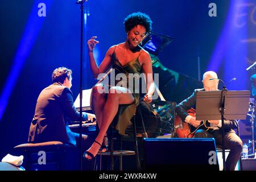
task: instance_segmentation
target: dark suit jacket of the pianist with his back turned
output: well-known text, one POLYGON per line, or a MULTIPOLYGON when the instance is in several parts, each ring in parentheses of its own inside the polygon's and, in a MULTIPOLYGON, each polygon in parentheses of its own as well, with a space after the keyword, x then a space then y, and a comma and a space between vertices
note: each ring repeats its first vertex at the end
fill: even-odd
MULTIPOLYGON (((30 125, 28 142, 60 141, 76 144, 68 127, 68 118, 79 121, 79 112, 73 105, 69 88, 55 82, 43 89, 36 102, 35 115, 30 125)), ((87 114, 83 113, 87 120, 87 114)))

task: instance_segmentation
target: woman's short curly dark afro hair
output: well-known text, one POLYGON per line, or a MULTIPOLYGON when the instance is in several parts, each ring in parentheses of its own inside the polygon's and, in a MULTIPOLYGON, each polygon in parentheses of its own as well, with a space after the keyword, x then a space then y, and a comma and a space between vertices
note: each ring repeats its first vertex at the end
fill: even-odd
POLYGON ((152 29, 152 20, 150 19, 150 16, 141 12, 128 15, 123 21, 123 24, 125 25, 126 32, 129 32, 133 27, 137 26, 138 24, 141 24, 146 28, 146 34, 148 34, 152 29))

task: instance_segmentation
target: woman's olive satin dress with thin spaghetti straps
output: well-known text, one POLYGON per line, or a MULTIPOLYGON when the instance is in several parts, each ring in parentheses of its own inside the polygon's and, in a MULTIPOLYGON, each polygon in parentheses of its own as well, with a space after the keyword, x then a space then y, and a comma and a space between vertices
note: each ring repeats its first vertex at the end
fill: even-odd
MULTIPOLYGON (((116 47, 117 46, 115 46, 115 48, 116 47)), ((118 130, 118 133, 124 135, 127 126, 131 125, 131 118, 133 118, 136 113, 137 105, 139 104, 139 77, 142 73, 142 67, 141 64, 139 64, 139 56, 142 51, 139 53, 138 57, 122 65, 119 61, 120 58, 117 57, 115 53, 115 48, 111 60, 112 71, 109 74, 108 88, 112 86, 125 87, 131 91, 131 94, 133 94, 135 98, 133 104, 122 104, 118 106, 118 112, 112 122, 112 125, 118 130)))

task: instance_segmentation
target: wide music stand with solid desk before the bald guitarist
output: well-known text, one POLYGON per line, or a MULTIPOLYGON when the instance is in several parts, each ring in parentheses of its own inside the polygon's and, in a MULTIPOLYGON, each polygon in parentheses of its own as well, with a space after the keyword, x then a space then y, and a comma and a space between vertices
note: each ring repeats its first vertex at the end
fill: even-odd
MULTIPOLYGON (((225 120, 246 119, 249 109, 249 90, 216 90, 199 91, 196 93, 196 120, 220 120, 224 126, 225 120)), ((222 128, 222 159, 223 169, 226 169, 224 148, 224 127, 222 128)))

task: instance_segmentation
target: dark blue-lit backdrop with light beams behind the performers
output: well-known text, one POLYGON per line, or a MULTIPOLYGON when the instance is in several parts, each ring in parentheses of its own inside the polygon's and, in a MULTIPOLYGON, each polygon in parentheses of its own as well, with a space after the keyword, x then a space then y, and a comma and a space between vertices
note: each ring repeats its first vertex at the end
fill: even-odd
MULTIPOLYGON (((249 78, 252 73, 246 72, 245 68, 256 60, 255 42, 247 41, 256 38, 255 1, 98 0, 89 1, 85 6, 89 16, 84 45, 91 36, 98 36, 100 43, 95 51, 98 63, 110 46, 125 41, 123 19, 130 13, 141 11, 150 15, 153 31, 175 38, 159 54, 165 67, 199 80, 205 71, 213 70, 225 81, 237 77, 228 88, 251 89, 249 78), (217 17, 208 15, 208 5, 212 2, 217 5, 217 17)), ((36 98, 51 84, 53 69, 64 66, 73 70, 72 92, 74 99, 77 97, 80 7, 71 0, 1 1, 0 17, 2 159, 11 154, 14 146, 27 141, 36 98), (40 2, 46 4, 46 17, 38 16, 40 2), (10 97, 3 94, 6 88, 10 88, 7 90, 10 97)), ((86 46, 84 55, 83 89, 89 89, 96 81, 88 67, 86 46)))

